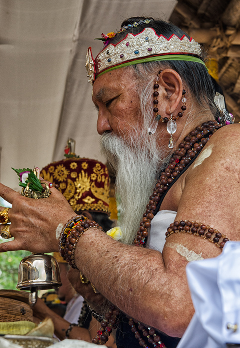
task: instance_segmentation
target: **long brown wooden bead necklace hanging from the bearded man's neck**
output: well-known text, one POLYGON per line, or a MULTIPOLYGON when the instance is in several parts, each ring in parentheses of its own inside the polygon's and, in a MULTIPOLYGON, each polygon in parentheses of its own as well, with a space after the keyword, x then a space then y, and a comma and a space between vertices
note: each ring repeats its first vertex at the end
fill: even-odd
MULTIPOLYGON (((198 126, 195 130, 191 131, 179 144, 178 150, 174 152, 173 156, 170 158, 168 166, 157 180, 153 194, 150 196, 150 201, 146 206, 146 212, 143 214, 142 221, 140 222, 140 228, 137 231, 134 245, 139 247, 144 247, 146 245, 148 229, 151 227, 151 220, 159 209, 159 203, 161 203, 176 179, 180 177, 186 167, 190 166, 212 134, 219 128, 221 128, 221 125, 218 124, 217 121, 204 122, 201 126, 198 126)), ((118 309, 111 305, 110 311, 105 314, 104 320, 101 322, 101 328, 98 331, 98 334, 93 339, 95 344, 105 344, 107 342, 112 328, 117 325, 117 315, 118 309)), ((142 335, 148 340, 148 343, 150 343, 152 347, 166 348, 164 343, 161 342, 160 336, 153 328, 145 327, 133 318, 129 318, 129 325, 131 326, 131 330, 135 334, 136 339, 139 340, 140 346, 143 348, 150 347, 141 337, 140 332, 142 332, 142 335)))

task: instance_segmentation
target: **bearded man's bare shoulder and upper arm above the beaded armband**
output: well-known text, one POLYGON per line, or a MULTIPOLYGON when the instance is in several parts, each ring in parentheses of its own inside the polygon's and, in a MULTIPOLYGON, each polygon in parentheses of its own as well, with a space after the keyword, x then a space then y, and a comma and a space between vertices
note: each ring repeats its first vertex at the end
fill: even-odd
POLYGON ((177 218, 204 222, 240 240, 239 148, 239 124, 212 135, 186 175, 177 218))

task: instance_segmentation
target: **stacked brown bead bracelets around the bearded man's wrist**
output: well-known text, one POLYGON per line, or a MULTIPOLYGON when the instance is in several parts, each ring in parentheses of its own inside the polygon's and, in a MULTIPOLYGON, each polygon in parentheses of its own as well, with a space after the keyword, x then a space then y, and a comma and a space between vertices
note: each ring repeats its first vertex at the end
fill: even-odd
POLYGON ((103 231, 102 227, 95 221, 91 221, 83 215, 77 215, 69 220, 63 228, 59 241, 59 252, 73 268, 77 268, 74 262, 74 251, 77 242, 84 232, 93 227, 103 231))

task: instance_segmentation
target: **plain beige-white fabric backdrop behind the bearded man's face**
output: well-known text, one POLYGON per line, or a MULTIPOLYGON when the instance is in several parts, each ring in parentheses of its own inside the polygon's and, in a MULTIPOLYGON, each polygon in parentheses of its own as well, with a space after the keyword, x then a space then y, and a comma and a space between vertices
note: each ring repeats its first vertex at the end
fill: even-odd
POLYGON ((0 0, 0 180, 18 189, 11 167, 43 167, 76 153, 99 154, 97 114, 85 54, 127 17, 168 19, 176 0, 0 0))

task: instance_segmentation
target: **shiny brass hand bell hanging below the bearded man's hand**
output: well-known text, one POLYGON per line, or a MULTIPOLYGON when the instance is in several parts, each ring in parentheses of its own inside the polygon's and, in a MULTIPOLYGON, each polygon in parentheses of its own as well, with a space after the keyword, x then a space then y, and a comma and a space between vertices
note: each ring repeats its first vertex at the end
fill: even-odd
POLYGON ((21 260, 16 288, 31 291, 32 306, 37 300, 38 290, 59 288, 61 285, 59 265, 53 256, 32 254, 21 260))

